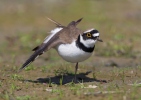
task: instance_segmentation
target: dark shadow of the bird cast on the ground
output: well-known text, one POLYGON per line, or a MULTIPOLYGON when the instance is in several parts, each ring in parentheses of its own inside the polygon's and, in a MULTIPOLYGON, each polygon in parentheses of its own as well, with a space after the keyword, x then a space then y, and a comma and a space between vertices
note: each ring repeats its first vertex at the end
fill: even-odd
MULTIPOLYGON (((88 74, 90 74, 91 71, 88 71, 86 73, 79 73, 77 74, 77 82, 75 83, 85 83, 85 82, 102 82, 102 83, 107 83, 106 80, 98 80, 94 78, 89 78, 87 77, 88 74)), ((70 82, 73 82, 74 80, 74 75, 72 74, 65 74, 65 75, 59 75, 59 76, 54 76, 54 77, 47 77, 47 78, 38 78, 37 80, 22 80, 26 82, 32 82, 32 83, 53 83, 57 85, 64 85, 70 82)))

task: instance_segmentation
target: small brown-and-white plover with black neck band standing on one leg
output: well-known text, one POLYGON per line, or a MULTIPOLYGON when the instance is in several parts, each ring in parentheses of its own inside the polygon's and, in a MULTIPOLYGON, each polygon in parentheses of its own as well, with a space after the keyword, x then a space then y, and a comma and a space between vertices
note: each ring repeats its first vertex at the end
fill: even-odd
POLYGON ((76 27, 82 19, 71 21, 67 26, 64 26, 48 18, 56 27, 50 31, 50 35, 44 39, 41 45, 36 46, 32 50, 34 51, 33 54, 25 61, 19 71, 27 67, 46 51, 54 48, 65 61, 76 63, 74 73, 74 82, 76 82, 78 63, 85 61, 92 55, 97 41, 103 42, 99 37, 99 31, 95 28, 82 31, 76 27))

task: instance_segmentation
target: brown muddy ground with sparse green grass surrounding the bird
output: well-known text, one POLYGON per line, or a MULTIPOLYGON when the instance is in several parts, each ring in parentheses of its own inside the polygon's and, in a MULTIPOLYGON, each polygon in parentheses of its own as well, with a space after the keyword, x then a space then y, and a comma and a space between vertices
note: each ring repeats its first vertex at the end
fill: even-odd
POLYGON ((0 1, 0 100, 141 100, 140 0, 0 1), (88 60, 64 61, 53 49, 18 69, 55 25, 83 17, 78 28, 96 28, 88 60))

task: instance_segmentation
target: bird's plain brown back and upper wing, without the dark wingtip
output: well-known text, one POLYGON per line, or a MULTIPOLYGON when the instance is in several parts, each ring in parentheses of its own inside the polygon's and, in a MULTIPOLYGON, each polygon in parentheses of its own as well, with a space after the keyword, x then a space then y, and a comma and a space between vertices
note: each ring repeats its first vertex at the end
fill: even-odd
POLYGON ((50 39, 50 44, 48 45, 46 50, 54 48, 60 43, 71 43, 74 39, 77 39, 78 35, 81 34, 82 31, 76 28, 76 25, 78 25, 81 20, 82 18, 78 19, 77 21, 72 21, 68 24, 67 27, 63 26, 63 29, 55 34, 52 39, 50 39))

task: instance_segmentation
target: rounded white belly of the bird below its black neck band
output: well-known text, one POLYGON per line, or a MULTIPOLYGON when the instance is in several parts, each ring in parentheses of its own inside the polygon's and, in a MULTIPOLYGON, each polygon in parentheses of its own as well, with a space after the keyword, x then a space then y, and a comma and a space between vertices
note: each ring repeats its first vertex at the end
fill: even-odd
POLYGON ((79 49, 75 42, 71 44, 61 44, 56 47, 59 55, 66 61, 76 63, 88 59, 92 53, 87 53, 79 49))

